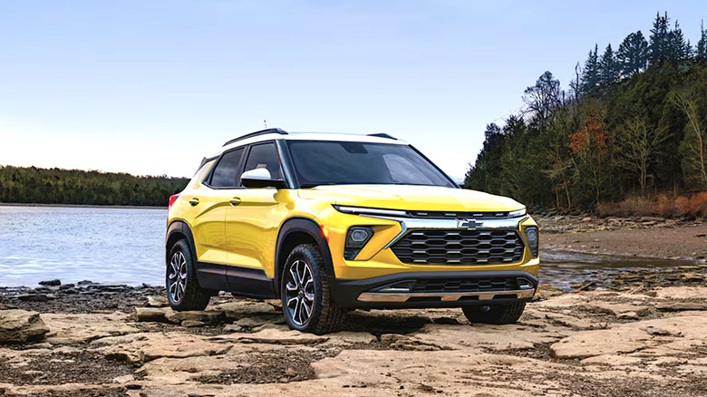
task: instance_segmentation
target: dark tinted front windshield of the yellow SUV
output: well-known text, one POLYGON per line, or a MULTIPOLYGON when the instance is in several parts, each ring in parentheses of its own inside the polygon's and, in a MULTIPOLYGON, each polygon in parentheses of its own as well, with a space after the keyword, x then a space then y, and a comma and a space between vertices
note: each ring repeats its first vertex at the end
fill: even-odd
POLYGON ((303 188, 342 184, 454 187, 407 145, 321 140, 288 140, 287 145, 303 188))

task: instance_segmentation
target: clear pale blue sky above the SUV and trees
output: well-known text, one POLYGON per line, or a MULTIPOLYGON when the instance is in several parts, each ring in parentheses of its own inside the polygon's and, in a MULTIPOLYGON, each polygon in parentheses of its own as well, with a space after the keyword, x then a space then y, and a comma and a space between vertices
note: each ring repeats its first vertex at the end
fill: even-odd
MULTIPOLYGON (((550 71, 702 1, 0 0, 0 165, 190 177, 250 131, 387 132, 463 178, 550 71)), ((601 51, 601 50, 600 50, 601 51)))

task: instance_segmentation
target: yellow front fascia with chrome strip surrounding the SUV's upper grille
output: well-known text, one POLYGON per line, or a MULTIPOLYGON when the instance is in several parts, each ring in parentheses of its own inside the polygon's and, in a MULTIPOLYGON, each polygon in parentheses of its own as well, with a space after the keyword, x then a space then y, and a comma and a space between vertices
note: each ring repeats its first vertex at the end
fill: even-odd
POLYGON ((523 239, 525 248, 519 262, 501 265, 410 265, 402 263, 390 247, 407 230, 420 228, 463 229, 457 219, 390 218, 344 214, 333 207, 325 208, 318 218, 329 232, 329 247, 334 261, 334 272, 341 279, 362 279, 404 272, 460 272, 460 271, 524 271, 538 276, 539 258, 532 257, 525 237, 525 228, 537 226, 528 217, 484 219, 481 229, 515 229, 523 239), (352 226, 371 227, 375 231, 371 240, 355 260, 344 259, 346 233, 352 226))

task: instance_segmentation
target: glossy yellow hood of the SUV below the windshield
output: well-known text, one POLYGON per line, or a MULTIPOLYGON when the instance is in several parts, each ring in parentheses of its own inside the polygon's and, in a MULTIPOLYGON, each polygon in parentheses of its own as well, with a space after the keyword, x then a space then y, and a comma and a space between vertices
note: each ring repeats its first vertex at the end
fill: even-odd
POLYGON ((327 200, 353 207, 420 211, 515 211, 514 199, 476 190, 411 185, 334 185, 300 189, 303 199, 327 200))

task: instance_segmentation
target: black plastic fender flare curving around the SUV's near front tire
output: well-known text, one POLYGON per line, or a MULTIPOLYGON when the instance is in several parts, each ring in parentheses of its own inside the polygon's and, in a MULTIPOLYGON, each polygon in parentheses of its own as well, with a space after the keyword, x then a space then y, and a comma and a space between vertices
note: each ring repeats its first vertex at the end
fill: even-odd
POLYGON ((289 255, 288 252, 282 251, 283 242, 286 237, 292 233, 304 232, 310 237, 314 238, 317 246, 319 246, 319 252, 322 253, 324 258, 324 266, 326 269, 326 275, 335 277, 334 274, 334 261, 332 260, 332 252, 329 249, 329 243, 326 238, 322 235, 322 228, 311 218, 289 218, 283 223, 277 234, 277 244, 275 248, 275 288, 277 295, 280 294, 280 276, 282 273, 282 267, 280 263, 284 263, 286 257, 289 255))

